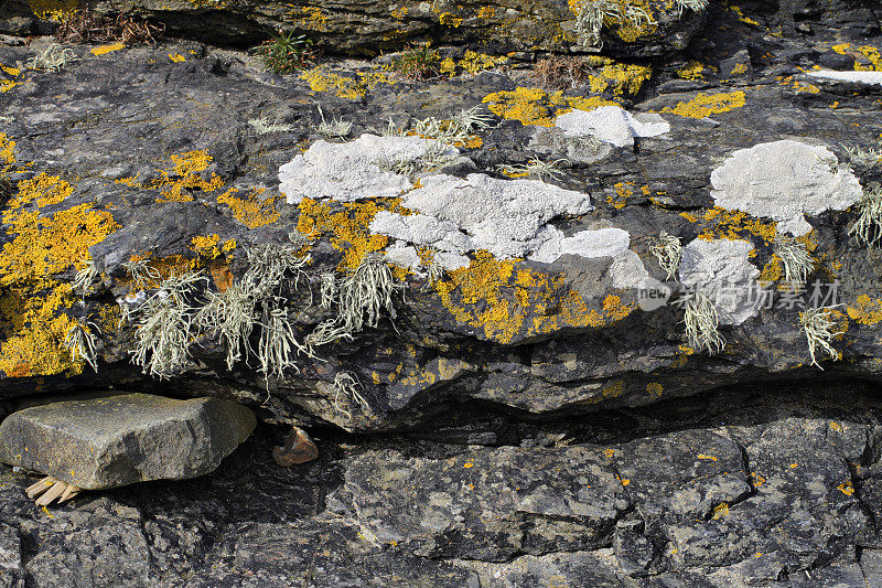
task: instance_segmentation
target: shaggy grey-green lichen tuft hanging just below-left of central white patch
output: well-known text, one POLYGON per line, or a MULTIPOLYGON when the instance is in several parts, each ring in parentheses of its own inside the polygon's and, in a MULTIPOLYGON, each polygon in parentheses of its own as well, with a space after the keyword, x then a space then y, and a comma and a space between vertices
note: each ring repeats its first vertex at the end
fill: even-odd
POLYGON ((343 280, 340 293, 340 318, 351 333, 376 327, 383 309, 395 319, 392 292, 404 290, 396 284, 383 255, 367 254, 358 267, 343 280))

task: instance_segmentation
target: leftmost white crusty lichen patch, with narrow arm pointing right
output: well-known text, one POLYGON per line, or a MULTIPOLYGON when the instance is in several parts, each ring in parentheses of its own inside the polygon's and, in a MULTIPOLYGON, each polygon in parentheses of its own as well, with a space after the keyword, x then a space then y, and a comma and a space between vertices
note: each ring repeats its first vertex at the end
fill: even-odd
POLYGON ((304 197, 353 202, 366 197, 394 197, 413 188, 413 168, 400 162, 439 161, 455 157, 450 146, 421 137, 362 135, 348 143, 315 141, 279 169, 279 190, 289 204, 304 197), (400 172, 400 173, 399 173, 400 172))

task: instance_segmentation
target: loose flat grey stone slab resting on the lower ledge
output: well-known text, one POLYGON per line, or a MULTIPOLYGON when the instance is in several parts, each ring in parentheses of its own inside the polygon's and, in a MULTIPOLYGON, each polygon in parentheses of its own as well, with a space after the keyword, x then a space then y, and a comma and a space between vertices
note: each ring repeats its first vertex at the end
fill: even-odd
POLYGON ((0 461, 86 490, 213 471, 251 434, 244 406, 125 394, 25 408, 0 424, 0 461))

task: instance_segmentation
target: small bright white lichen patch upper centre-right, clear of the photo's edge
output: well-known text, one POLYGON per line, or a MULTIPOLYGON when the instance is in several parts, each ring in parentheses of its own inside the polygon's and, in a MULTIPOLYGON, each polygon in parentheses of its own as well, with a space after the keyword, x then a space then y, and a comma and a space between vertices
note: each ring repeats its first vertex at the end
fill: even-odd
POLYGON ((555 126, 567 137, 593 137, 616 147, 632 147, 635 138, 657 137, 670 131, 670 125, 660 115, 632 115, 619 106, 572 110, 560 115, 555 126))

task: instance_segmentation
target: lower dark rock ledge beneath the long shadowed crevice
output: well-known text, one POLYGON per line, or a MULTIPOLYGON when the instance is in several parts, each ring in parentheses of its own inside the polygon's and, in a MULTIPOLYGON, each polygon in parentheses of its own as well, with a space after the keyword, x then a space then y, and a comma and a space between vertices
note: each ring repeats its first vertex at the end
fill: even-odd
POLYGON ((43 511, 0 467, 6 586, 731 587, 882 581, 878 387, 742 386, 478 437, 257 432, 213 473, 43 511), (842 398, 848 396, 848 402, 842 398), (99 556, 96 556, 99 554, 99 556))

